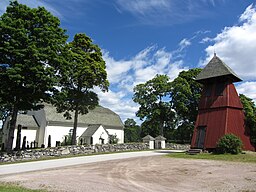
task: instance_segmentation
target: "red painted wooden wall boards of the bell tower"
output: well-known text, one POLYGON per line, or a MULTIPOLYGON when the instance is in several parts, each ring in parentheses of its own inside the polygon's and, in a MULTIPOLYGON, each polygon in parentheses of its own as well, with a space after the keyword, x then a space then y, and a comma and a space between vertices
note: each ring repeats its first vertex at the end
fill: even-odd
POLYGON ((197 128, 206 126, 204 149, 216 148, 217 142, 222 136, 233 133, 242 140, 244 150, 255 151, 244 126, 243 106, 235 86, 227 79, 223 94, 216 95, 215 91, 219 82, 218 80, 210 82, 211 95, 206 96, 208 83, 204 84, 191 147, 197 147, 197 128))

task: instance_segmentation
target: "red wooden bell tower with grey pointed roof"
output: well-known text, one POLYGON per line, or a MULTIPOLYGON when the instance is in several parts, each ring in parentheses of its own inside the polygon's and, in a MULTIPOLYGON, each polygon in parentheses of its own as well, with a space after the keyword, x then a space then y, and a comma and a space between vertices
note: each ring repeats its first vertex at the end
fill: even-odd
POLYGON ((225 134, 233 133, 244 150, 255 151, 244 124, 243 106, 233 82, 241 79, 216 54, 196 80, 203 84, 191 148, 214 149, 225 134))

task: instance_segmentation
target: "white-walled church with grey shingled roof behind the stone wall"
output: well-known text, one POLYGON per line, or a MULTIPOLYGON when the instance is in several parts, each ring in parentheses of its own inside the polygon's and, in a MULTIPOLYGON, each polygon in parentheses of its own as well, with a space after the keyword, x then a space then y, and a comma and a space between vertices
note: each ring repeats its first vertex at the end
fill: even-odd
MULTIPOLYGON (((38 111, 28 111, 17 117, 14 132, 13 147, 16 146, 17 127, 21 129, 22 139, 26 136, 26 142, 37 143, 38 147, 47 147, 48 139, 51 146, 62 143, 73 130, 73 118, 67 120, 63 113, 57 113, 56 108, 50 104, 38 111)), ((6 142, 9 119, 3 125, 3 142, 6 142)), ((124 125, 120 117, 110 109, 98 106, 85 115, 79 114, 77 126, 77 143, 80 144, 107 144, 110 137, 115 137, 118 143, 124 142, 124 125)))

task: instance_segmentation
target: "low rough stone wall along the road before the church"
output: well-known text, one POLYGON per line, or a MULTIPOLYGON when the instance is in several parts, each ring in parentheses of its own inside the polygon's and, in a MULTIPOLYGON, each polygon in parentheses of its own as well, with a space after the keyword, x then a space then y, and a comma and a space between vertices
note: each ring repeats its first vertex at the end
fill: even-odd
MULTIPOLYGON (((187 150, 189 145, 166 144, 168 149, 187 150)), ((129 144, 106 144, 90 146, 60 146, 52 148, 29 149, 13 151, 12 154, 0 154, 0 162, 16 162, 35 159, 44 159, 49 157, 60 157, 69 155, 86 155, 95 153, 121 152, 121 151, 143 151, 148 150, 147 143, 129 143, 129 144)), ((1 152, 0 152, 1 153, 1 152)))

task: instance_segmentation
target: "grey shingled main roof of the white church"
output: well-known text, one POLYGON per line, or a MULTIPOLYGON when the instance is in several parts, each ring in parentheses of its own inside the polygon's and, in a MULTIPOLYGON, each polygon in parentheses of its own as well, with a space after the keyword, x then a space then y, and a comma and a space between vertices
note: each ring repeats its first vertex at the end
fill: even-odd
MULTIPOLYGON (((74 119, 67 120, 63 117, 63 113, 57 113, 56 108, 52 105, 45 104, 43 109, 46 115, 46 121, 48 124, 68 124, 73 125, 74 119)), ((74 117, 73 113, 72 117, 74 117)), ((106 128, 111 129, 123 129, 123 123, 116 113, 110 109, 98 106, 93 110, 90 110, 89 113, 85 115, 78 115, 78 126, 88 126, 88 125, 103 125, 106 128)))

